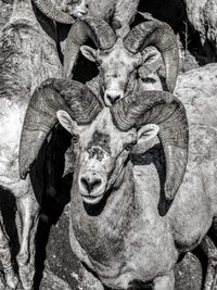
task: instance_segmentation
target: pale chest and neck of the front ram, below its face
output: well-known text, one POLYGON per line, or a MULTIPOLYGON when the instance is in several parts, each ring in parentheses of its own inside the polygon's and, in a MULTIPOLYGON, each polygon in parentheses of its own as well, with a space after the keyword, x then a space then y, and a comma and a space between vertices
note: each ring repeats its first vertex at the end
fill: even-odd
MULTIPOLYGON (((148 189, 144 194, 143 177, 139 168, 129 169, 122 188, 113 192, 115 199, 97 217, 88 216, 82 201, 75 197, 76 188, 72 191, 72 250, 103 285, 114 289, 166 276, 178 257, 170 226, 157 214, 156 194, 148 189), (129 190, 132 184, 135 196, 129 190)), ((148 181, 153 184, 153 178, 145 178, 145 185, 148 181)))

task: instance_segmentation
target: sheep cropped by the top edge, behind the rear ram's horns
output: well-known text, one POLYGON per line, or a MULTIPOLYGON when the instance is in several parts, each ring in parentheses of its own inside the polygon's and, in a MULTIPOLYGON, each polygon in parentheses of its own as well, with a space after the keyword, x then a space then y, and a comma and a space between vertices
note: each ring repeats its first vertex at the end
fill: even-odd
POLYGON ((118 31, 133 20, 139 5, 139 0, 33 0, 37 8, 49 18, 63 24, 73 24, 75 18, 92 15, 111 22, 112 27, 118 31))

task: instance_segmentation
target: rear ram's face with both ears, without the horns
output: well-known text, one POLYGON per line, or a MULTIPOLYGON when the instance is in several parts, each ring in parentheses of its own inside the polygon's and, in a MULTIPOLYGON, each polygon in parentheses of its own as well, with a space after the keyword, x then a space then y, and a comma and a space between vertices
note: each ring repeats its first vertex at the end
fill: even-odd
POLYGON ((150 65, 161 55, 156 50, 144 50, 142 54, 133 54, 124 47, 122 39, 107 51, 94 50, 87 46, 82 46, 80 50, 87 59, 95 61, 99 66, 100 88, 107 106, 136 88, 137 70, 141 65, 150 65))

